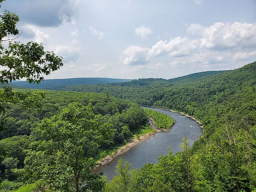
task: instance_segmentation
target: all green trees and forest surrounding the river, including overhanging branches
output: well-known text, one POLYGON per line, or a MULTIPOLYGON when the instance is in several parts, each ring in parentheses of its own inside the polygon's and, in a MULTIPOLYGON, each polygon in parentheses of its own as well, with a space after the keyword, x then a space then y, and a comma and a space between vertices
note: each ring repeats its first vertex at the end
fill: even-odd
POLYGON ((21 35, 15 13, 5 10, 0 20, 1 192, 256 191, 256 61, 168 80, 44 85, 63 58, 43 44, 14 41, 21 35), (22 79, 29 88, 53 90, 11 84, 22 79), (157 164, 133 169, 119 159, 107 181, 92 172, 106 151, 155 132, 149 117, 162 128, 174 123, 140 105, 188 114, 201 122, 203 134, 192 146, 184 137, 181 151, 170 149, 157 164))

